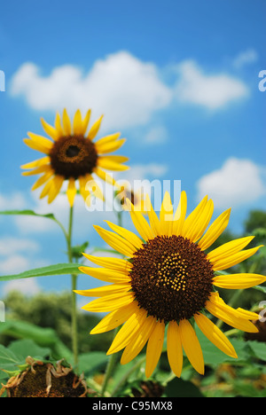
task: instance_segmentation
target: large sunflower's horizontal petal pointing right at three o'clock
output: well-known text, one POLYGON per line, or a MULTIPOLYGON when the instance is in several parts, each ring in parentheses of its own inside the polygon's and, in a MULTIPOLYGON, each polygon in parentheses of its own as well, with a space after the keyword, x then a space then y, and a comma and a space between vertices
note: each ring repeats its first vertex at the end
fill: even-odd
POLYGON ((230 274, 218 275, 213 279, 214 286, 227 289, 244 289, 259 286, 266 281, 266 277, 260 274, 230 274))

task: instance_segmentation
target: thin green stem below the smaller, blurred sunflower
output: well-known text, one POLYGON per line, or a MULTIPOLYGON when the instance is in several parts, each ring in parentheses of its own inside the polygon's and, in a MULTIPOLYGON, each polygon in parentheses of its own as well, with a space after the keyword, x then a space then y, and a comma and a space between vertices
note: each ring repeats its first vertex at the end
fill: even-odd
MULTIPOLYGON (((67 243, 67 256, 68 262, 73 263, 72 255, 72 230, 73 230, 73 207, 70 207, 69 211, 69 222, 68 222, 68 234, 66 238, 67 243)), ((76 316, 76 295, 74 290, 76 290, 77 276, 71 275, 71 315, 72 315, 72 349, 74 355, 74 365, 78 364, 78 346, 77 346, 77 316, 76 316)))

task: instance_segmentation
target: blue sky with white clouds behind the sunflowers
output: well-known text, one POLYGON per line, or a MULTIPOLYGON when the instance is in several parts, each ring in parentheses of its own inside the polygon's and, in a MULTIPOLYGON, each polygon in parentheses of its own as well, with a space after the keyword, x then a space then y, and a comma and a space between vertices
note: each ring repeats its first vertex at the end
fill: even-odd
MULTIPOLYGON (((23 144, 43 134, 66 106, 105 114, 102 134, 120 130, 129 176, 181 180, 190 208, 209 194, 215 216, 232 207, 230 229, 242 230, 251 208, 265 209, 266 69, 263 0, 11 1, 1 7, 0 208, 54 211, 30 192, 20 165, 38 154, 23 144)), ((93 223, 112 215, 76 209, 74 242, 100 243, 93 223)), ((47 222, 1 220, 0 273, 65 262, 61 234, 47 222)), ((125 219, 126 220, 126 219, 125 219)), ((90 284, 84 280, 85 284, 90 284)), ((81 278, 81 285, 82 285, 81 278)), ((68 278, 39 278, 28 293, 68 287, 68 278)), ((2 283, 0 295, 7 285, 2 283)))

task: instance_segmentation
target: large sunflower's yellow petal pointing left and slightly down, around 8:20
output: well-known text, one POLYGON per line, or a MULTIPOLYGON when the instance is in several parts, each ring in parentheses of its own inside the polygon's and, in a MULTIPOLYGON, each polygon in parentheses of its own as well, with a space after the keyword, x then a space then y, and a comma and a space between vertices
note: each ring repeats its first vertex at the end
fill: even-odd
POLYGON ((121 293, 106 295, 103 298, 90 301, 89 304, 82 307, 87 311, 93 311, 98 313, 105 313, 107 311, 113 311, 113 309, 119 309, 130 302, 134 301, 134 294, 132 293, 121 293))

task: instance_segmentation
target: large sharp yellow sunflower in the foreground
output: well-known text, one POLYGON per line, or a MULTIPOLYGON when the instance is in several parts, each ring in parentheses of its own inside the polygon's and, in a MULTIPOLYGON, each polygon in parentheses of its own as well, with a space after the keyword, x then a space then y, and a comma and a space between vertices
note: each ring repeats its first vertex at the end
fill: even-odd
POLYGON ((226 228, 231 213, 231 209, 224 211, 208 227, 214 203, 207 196, 187 217, 185 192, 181 193, 176 213, 168 193, 163 198, 160 217, 148 197, 146 203, 149 222, 129 205, 139 236, 109 222, 112 231, 95 226, 102 239, 125 258, 84 254, 100 267, 82 266, 80 270, 111 284, 76 293, 100 297, 83 309, 108 312, 90 333, 104 333, 121 325, 107 351, 109 355, 124 348, 121 364, 129 363, 147 343, 145 374, 151 376, 166 337, 168 362, 177 377, 181 376, 183 354, 197 372, 204 374, 195 326, 217 348, 234 358, 238 357, 235 349, 212 322, 212 316, 239 330, 257 332, 251 320, 259 316, 245 309, 233 309, 215 287, 242 289, 262 284, 266 280, 262 275, 216 272, 246 260, 259 247, 244 249, 253 239, 246 237, 206 253, 226 228))

